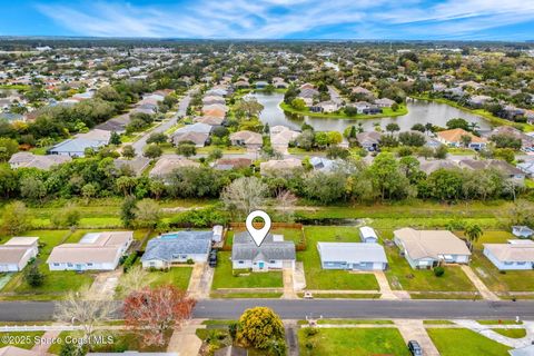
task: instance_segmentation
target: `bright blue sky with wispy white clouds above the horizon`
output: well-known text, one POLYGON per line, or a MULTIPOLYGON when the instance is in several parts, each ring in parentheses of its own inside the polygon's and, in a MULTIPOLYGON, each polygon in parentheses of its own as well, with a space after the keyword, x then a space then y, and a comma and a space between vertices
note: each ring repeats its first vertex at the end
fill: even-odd
POLYGON ((534 0, 0 0, 0 36, 533 40, 534 0))

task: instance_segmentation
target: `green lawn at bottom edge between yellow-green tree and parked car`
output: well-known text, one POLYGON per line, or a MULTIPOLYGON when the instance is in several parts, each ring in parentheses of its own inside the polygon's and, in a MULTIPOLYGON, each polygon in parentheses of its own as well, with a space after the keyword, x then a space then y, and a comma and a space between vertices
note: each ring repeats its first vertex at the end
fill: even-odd
MULTIPOLYGON (((306 329, 298 330, 300 355, 409 355, 396 328, 325 328, 306 336, 306 329)), ((459 354, 458 354, 459 355, 459 354)))

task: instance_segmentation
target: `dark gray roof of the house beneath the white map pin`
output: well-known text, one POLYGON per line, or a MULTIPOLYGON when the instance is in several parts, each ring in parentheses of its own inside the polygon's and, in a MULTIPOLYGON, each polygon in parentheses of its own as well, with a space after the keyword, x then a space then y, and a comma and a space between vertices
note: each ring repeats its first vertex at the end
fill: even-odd
POLYGON ((231 248, 233 260, 294 260, 296 259, 295 243, 274 241, 273 235, 268 234, 264 243, 258 247, 250 234, 239 233, 234 236, 231 248))

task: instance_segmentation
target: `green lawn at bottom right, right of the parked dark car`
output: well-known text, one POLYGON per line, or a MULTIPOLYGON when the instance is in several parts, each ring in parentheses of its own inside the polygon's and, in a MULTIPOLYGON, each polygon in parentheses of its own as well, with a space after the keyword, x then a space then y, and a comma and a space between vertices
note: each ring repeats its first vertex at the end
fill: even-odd
POLYGON ((442 356, 507 356, 507 347, 469 329, 427 328, 442 356))

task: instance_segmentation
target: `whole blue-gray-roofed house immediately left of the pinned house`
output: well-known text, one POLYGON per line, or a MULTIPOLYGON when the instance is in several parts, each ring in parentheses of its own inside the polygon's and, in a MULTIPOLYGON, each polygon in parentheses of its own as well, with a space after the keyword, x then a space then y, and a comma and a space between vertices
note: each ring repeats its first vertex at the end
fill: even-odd
POLYGON ((162 269, 188 260, 205 263, 212 236, 212 231, 176 231, 152 238, 141 257, 142 267, 162 269))

